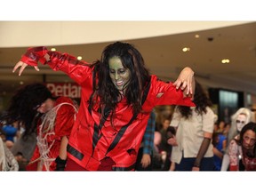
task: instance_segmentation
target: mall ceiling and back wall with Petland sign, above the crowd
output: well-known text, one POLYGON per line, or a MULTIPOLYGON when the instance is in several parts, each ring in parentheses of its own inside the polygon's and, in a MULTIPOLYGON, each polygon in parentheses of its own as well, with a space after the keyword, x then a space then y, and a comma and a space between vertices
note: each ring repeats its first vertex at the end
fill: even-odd
POLYGON ((80 97, 79 87, 68 76, 47 66, 39 65, 39 72, 26 68, 22 76, 12 73, 28 47, 44 45, 93 62, 107 44, 116 41, 134 44, 150 73, 164 81, 174 81, 186 66, 192 68, 216 113, 227 105, 256 108, 256 22, 1 21, 0 28, 1 112, 13 92, 33 82, 48 84, 57 95, 80 97), (226 97, 231 104, 225 104, 226 97))

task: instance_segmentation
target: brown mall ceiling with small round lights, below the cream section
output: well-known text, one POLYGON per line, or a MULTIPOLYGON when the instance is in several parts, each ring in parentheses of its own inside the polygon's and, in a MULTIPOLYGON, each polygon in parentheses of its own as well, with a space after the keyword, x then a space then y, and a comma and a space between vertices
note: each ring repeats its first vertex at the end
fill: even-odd
MULTIPOLYGON (((249 92, 256 95, 256 22, 226 28, 213 28, 170 36, 124 39, 142 53, 152 74, 173 81, 181 68, 194 69, 196 79, 205 87, 249 92), (195 36, 199 35, 199 38, 195 36), (182 52, 182 48, 190 48, 182 52), (221 63, 228 59, 229 63, 221 63)), ((92 62, 100 59, 104 47, 112 42, 54 46, 58 52, 82 56, 92 62)), ((49 47, 51 48, 51 47, 49 47)), ((70 82, 61 72, 39 66, 40 72, 27 68, 22 76, 12 68, 27 48, 0 48, 0 95, 12 94, 23 84, 32 82, 70 82)))

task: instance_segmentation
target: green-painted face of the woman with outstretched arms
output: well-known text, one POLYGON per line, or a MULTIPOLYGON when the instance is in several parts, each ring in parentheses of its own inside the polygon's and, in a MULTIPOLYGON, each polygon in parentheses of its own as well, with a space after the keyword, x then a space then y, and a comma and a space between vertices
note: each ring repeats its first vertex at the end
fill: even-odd
POLYGON ((109 76, 113 84, 120 92, 124 92, 125 86, 129 83, 131 78, 131 71, 124 68, 122 61, 118 57, 113 57, 108 61, 109 76))

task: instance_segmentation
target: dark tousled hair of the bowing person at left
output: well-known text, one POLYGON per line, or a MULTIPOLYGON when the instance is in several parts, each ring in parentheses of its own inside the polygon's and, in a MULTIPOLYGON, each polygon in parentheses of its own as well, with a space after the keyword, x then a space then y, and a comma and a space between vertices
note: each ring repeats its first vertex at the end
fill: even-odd
POLYGON ((44 84, 28 84, 21 87, 10 100, 10 105, 2 120, 7 124, 18 121, 25 127, 25 133, 29 134, 36 129, 36 107, 47 99, 53 99, 52 93, 44 84))

